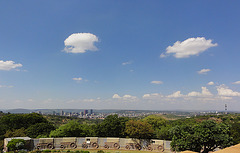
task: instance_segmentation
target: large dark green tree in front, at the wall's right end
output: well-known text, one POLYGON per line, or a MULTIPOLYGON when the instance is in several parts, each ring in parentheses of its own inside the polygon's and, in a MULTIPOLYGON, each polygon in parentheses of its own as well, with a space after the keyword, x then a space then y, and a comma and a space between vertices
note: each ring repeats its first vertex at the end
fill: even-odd
POLYGON ((176 151, 208 153, 232 144, 229 126, 213 120, 206 120, 195 126, 176 126, 170 133, 173 136, 171 147, 176 151))

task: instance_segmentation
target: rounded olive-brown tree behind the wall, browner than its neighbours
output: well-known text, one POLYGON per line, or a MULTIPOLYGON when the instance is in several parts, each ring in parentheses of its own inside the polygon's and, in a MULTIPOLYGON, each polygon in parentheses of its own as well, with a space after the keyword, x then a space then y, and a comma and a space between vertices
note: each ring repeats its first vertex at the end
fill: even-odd
POLYGON ((126 123, 125 132, 131 138, 151 139, 153 137, 154 130, 147 122, 130 120, 126 123))

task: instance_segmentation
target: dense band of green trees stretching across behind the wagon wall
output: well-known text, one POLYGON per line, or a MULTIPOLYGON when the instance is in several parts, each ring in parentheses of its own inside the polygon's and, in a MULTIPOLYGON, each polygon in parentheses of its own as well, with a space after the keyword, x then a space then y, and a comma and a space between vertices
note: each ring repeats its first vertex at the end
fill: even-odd
POLYGON ((239 114, 208 115, 178 120, 166 120, 158 115, 142 119, 109 115, 104 120, 42 116, 36 113, 0 116, 1 140, 5 137, 19 136, 157 138, 172 140, 173 150, 208 152, 216 147, 224 148, 240 143, 239 131, 239 114))

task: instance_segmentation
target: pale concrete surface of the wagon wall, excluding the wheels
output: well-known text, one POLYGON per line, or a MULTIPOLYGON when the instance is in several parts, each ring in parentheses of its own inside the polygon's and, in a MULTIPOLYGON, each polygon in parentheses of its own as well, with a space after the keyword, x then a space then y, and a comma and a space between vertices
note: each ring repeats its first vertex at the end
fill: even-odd
MULTIPOLYGON (((7 145, 8 141, 10 141, 12 138, 6 138, 4 140, 4 146, 7 145)), ((90 139, 90 142, 88 145, 88 149, 94 149, 95 147, 92 146, 93 142, 97 142, 99 147, 98 149, 106 149, 104 146, 107 144, 109 145, 109 149, 115 149, 113 144, 117 143, 120 148, 119 149, 126 149, 126 146, 130 146, 129 150, 135 150, 136 144, 140 144, 142 149, 141 150, 149 150, 148 146, 151 144, 149 141, 144 140, 137 140, 137 139, 131 139, 131 138, 101 138, 101 137, 65 137, 65 138, 40 138, 40 139, 30 139, 30 147, 28 150, 44 150, 44 149, 52 149, 48 148, 48 144, 52 143, 54 146, 54 149, 62 149, 62 145, 65 146, 65 149, 72 149, 70 144, 74 143, 76 145, 76 149, 83 149, 83 144, 87 142, 87 139, 90 139), (40 148, 38 148, 41 146, 40 148)), ((170 150, 170 141, 161 140, 158 142, 162 142, 162 146, 165 150, 170 150)), ((155 144, 156 146, 156 144, 155 144)), ((152 147, 153 150, 157 150, 157 147, 152 147)))

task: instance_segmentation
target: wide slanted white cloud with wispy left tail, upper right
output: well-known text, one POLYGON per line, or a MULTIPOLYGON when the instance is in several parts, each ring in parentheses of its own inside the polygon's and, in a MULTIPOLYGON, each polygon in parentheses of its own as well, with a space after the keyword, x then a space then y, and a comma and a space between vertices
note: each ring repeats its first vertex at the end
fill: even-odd
POLYGON ((174 54, 176 58, 188 58, 193 55, 199 55, 208 48, 215 47, 218 44, 212 43, 212 40, 206 40, 204 37, 188 38, 183 42, 177 41, 173 46, 168 46, 166 53, 160 55, 161 58, 169 54, 174 54))

